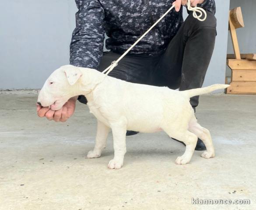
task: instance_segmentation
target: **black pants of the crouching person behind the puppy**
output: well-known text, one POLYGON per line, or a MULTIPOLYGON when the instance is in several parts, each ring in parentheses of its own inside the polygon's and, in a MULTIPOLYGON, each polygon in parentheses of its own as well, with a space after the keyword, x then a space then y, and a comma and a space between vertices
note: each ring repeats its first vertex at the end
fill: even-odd
MULTIPOLYGON (((207 12, 203 22, 189 14, 164 52, 156 56, 126 55, 109 76, 155 86, 167 86, 180 91, 200 88, 214 50, 216 18, 207 12)), ((104 52, 99 71, 105 70, 121 54, 104 52)), ((190 100, 195 109, 199 96, 190 100)), ((86 103, 86 98, 79 97, 86 103)))

